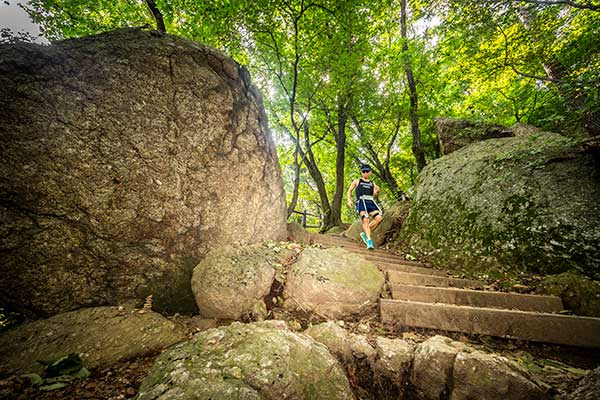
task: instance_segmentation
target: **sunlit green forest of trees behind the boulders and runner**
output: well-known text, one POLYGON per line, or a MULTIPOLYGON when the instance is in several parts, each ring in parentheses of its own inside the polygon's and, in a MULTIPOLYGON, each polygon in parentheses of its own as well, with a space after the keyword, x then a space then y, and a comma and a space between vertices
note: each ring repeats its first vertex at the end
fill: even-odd
MULTIPOLYGON (((32 0, 62 40, 148 25, 231 55, 261 89, 288 194, 353 218, 368 162, 390 205, 440 157, 438 116, 600 135, 599 1, 32 0)), ((215 177, 218 179, 218 177, 215 177)), ((317 221, 309 221, 315 224, 317 221)))

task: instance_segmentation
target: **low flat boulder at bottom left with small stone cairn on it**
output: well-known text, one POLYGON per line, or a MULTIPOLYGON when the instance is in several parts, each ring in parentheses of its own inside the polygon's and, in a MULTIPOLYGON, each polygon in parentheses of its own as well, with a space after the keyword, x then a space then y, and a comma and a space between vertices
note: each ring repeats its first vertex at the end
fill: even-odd
POLYGON ((87 368, 156 353, 187 339, 186 330, 149 310, 84 308, 20 325, 0 335, 0 376, 41 373, 78 353, 87 368))

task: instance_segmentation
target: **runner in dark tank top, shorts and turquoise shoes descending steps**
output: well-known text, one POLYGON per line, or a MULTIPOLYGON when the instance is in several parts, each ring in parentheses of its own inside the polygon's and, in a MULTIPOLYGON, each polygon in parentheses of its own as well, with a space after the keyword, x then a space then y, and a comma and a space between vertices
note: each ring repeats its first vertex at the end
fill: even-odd
POLYGON ((375 202, 375 198, 379 195, 379 186, 371 181, 371 167, 369 165, 361 165, 360 172, 360 179, 352 181, 348 189, 348 207, 352 208, 352 191, 356 189, 355 207, 363 223, 363 232, 360 233, 360 237, 367 245, 367 249, 372 249, 371 231, 383 219, 383 212, 375 202))

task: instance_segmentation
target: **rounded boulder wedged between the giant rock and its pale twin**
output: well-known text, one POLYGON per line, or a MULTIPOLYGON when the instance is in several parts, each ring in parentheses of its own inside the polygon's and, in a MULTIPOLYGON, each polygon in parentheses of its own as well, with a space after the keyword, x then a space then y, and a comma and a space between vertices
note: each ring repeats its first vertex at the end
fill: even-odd
POLYGON ((239 319, 266 308, 276 272, 292 252, 277 246, 223 247, 211 251, 194 268, 192 292, 205 318, 239 319), (258 303, 258 304, 257 304, 258 303))

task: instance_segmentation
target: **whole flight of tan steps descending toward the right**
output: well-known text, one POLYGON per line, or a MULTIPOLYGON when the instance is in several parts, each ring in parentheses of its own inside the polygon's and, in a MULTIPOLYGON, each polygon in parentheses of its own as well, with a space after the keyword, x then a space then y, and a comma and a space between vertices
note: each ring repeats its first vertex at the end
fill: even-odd
POLYGON ((484 290, 484 282, 454 278, 341 236, 318 235, 313 242, 363 255, 385 273, 392 299, 380 299, 383 323, 600 348, 600 318, 560 314, 559 297, 484 290))

